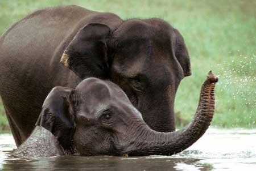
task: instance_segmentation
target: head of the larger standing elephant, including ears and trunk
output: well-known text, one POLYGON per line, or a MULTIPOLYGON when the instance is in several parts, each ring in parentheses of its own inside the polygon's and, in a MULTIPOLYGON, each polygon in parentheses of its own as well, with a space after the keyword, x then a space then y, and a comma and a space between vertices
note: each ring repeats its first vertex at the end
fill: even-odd
POLYGON ((118 84, 151 129, 175 131, 175 94, 191 65, 183 37, 163 20, 125 20, 115 30, 87 24, 61 63, 80 78, 91 73, 118 84))

